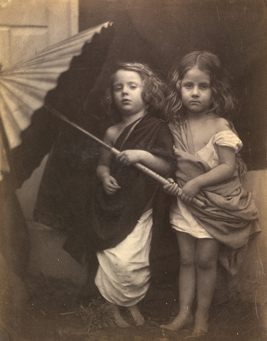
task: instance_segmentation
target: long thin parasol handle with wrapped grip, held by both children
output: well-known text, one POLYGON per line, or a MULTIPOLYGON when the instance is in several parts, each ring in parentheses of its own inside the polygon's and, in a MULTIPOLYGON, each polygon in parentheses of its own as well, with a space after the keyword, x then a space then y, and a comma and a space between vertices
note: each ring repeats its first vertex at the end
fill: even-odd
MULTIPOLYGON (((72 127, 80 130, 81 132, 83 132, 84 134, 88 135, 89 137, 91 137, 92 139, 94 139, 95 141, 97 141, 99 144, 101 144, 104 148, 106 148, 107 150, 109 150, 112 154, 114 155, 118 155, 120 153, 120 151, 114 147, 109 146, 108 144, 106 144, 104 141, 102 141, 101 139, 99 139, 98 137, 96 137, 95 135, 89 133, 87 130, 81 128, 78 124, 70 121, 69 119, 67 119, 67 117, 65 117, 64 115, 62 115, 61 113, 58 113, 56 110, 54 110, 53 108, 48 108, 54 115, 56 115, 57 117, 59 117, 61 120, 67 122, 68 124, 72 125, 72 127)), ((149 175, 150 177, 152 177, 153 179, 157 180, 158 182, 162 183, 163 185, 169 184, 170 182, 165 179, 163 176, 157 174, 156 172, 154 172, 153 170, 151 170, 150 168, 142 165, 141 163, 134 163, 133 166, 139 170, 141 170, 142 172, 144 172, 145 174, 149 175)), ((180 190, 180 188, 178 188, 180 190)), ((179 193, 177 194, 179 195, 179 193)), ((200 201, 197 198, 193 198, 192 202, 200 207, 200 208, 204 208, 206 205, 205 203, 203 203, 202 201, 200 201)))

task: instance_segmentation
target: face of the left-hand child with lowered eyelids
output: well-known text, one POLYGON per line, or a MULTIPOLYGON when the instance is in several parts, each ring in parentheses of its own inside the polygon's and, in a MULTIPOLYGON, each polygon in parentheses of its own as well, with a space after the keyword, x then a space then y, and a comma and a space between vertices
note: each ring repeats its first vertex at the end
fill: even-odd
POLYGON ((134 115, 145 111, 142 91, 143 82, 137 72, 118 70, 115 73, 113 98, 121 114, 134 115))

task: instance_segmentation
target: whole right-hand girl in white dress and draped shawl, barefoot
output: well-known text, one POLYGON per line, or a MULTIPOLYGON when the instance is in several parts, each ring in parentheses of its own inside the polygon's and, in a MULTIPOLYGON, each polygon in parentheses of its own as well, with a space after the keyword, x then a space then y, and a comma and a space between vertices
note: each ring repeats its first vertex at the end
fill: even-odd
POLYGON ((162 328, 178 330, 193 320, 193 336, 208 331, 209 308, 217 274, 217 260, 234 274, 252 234, 258 232, 257 210, 240 183, 244 173, 242 142, 229 116, 234 101, 219 59, 195 51, 172 73, 173 90, 166 115, 177 158, 176 182, 164 190, 177 195, 170 222, 179 253, 179 313, 162 328), (178 189, 178 186, 181 189, 178 189), (197 197, 206 204, 192 203, 197 197))

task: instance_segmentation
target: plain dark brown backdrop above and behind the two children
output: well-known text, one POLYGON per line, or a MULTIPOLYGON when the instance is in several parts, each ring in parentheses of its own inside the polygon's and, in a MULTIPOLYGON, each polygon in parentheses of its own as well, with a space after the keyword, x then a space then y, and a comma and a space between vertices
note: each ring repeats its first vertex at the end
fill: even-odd
POLYGON ((109 59, 147 62, 167 74, 193 50, 222 61, 240 104, 233 119, 249 169, 266 168, 266 1, 80 0, 80 31, 113 21, 109 59))

